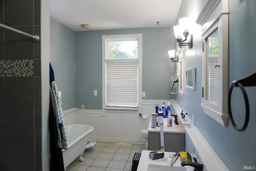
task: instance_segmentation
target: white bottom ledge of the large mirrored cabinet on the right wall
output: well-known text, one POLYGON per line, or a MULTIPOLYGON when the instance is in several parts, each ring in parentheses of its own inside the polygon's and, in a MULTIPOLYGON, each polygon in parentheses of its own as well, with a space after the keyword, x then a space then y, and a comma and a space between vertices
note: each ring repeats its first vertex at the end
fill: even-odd
POLYGON ((228 114, 220 113, 202 103, 201 107, 203 108, 204 113, 206 113, 206 115, 212 117, 212 119, 216 120, 218 123, 225 127, 228 125, 228 114))

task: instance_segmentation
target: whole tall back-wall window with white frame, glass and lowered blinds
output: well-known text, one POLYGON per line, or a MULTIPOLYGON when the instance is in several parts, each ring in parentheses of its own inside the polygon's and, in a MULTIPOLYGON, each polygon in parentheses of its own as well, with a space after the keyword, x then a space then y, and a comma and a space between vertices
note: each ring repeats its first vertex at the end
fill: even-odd
POLYGON ((139 110, 142 34, 102 36, 102 109, 139 110))

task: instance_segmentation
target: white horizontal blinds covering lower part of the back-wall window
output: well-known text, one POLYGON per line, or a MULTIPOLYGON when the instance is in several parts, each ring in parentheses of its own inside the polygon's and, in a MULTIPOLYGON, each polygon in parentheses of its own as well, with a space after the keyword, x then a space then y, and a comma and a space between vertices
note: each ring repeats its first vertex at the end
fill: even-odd
POLYGON ((138 108, 138 59, 106 60, 106 107, 138 108))

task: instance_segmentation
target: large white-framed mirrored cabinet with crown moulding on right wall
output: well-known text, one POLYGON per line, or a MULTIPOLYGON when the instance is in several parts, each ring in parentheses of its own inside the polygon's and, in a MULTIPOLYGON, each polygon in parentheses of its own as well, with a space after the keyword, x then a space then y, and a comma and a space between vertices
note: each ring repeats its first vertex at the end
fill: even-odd
POLYGON ((203 28, 201 107, 204 113, 227 126, 228 0, 207 1, 196 22, 203 28))

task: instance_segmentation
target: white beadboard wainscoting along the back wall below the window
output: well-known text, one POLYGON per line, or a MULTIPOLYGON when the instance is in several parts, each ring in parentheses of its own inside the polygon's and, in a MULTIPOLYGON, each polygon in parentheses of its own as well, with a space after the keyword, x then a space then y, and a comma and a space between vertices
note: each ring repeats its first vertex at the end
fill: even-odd
POLYGON ((64 115, 64 119, 66 125, 67 123, 92 125, 94 130, 89 135, 91 140, 145 144, 146 141, 142 138, 140 130, 148 128, 151 113, 155 113, 155 104, 158 103, 161 107, 163 102, 167 107, 170 101, 142 100, 141 115, 147 115, 147 119, 142 119, 138 113, 125 112, 106 112, 106 116, 102 116, 102 110, 89 109, 77 109, 75 114, 64 115))

